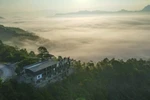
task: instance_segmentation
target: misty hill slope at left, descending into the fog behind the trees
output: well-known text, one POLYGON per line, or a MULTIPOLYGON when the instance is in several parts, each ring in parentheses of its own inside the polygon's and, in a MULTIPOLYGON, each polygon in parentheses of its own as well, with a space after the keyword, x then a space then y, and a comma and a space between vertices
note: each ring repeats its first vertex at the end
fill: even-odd
POLYGON ((35 47, 39 47, 41 45, 54 45, 50 40, 39 37, 35 33, 28 32, 16 27, 5 27, 3 25, 0 25, 0 40, 6 44, 18 46, 21 48, 30 48, 31 44, 34 44, 33 46, 35 47))

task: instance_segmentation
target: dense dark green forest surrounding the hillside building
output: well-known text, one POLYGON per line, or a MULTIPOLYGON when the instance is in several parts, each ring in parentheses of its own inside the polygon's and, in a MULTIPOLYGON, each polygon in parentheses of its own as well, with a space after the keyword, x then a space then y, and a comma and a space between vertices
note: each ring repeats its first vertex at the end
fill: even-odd
MULTIPOLYGON (((0 61, 19 62, 22 66, 36 62, 39 54, 0 41, 0 61), (37 58, 37 59, 35 59, 37 58)), ((107 59, 94 63, 73 61, 75 72, 64 80, 36 88, 15 79, 0 80, 0 100, 150 100, 150 61, 142 59, 107 59)))

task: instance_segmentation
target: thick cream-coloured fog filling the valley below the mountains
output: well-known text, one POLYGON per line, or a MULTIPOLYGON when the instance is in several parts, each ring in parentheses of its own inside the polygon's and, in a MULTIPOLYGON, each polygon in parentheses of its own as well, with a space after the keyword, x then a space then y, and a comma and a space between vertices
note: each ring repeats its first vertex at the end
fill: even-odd
POLYGON ((83 61, 105 57, 150 58, 149 14, 12 17, 0 24, 20 27, 59 43, 57 48, 50 49, 57 56, 83 61))

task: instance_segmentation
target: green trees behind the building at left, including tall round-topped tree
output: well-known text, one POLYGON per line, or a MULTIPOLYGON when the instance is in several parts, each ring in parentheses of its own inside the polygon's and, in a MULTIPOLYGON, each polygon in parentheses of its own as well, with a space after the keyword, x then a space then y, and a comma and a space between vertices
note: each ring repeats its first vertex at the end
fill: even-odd
POLYGON ((28 52, 26 49, 6 45, 0 40, 0 62, 17 63, 15 71, 18 75, 24 66, 53 57, 45 47, 39 47, 38 52, 38 54, 34 51, 28 52))

